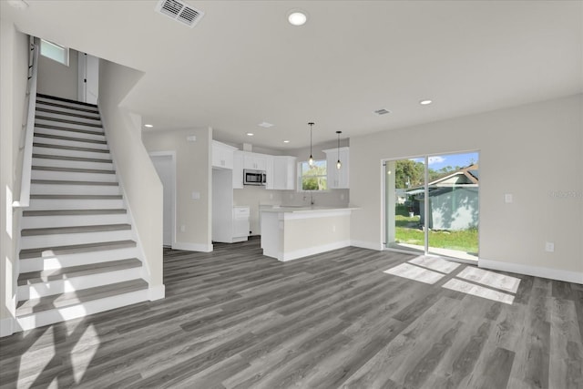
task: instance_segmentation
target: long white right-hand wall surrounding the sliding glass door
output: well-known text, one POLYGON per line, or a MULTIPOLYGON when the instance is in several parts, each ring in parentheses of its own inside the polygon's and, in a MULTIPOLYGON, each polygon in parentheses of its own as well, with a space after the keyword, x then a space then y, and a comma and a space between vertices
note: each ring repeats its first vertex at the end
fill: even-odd
POLYGON ((351 138, 353 244, 382 247, 382 159, 479 150, 480 264, 583 282, 582 108, 578 95, 351 138))

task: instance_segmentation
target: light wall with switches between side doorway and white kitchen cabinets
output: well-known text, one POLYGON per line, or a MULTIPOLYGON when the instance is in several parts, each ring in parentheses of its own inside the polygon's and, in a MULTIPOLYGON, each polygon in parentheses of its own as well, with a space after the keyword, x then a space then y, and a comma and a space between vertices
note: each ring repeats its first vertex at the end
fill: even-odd
POLYGON ((176 242, 173 246, 181 250, 212 251, 212 129, 148 131, 142 134, 142 141, 150 153, 176 152, 176 242), (187 141, 191 135, 196 136, 196 141, 187 141), (199 198, 194 199, 193 194, 199 198))

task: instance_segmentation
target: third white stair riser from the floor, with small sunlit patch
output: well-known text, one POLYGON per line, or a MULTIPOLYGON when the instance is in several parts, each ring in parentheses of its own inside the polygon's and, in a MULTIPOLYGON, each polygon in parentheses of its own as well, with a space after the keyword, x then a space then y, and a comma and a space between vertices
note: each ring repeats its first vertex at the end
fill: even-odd
POLYGON ((45 258, 20 260, 20 272, 63 269, 70 266, 119 261, 128 258, 138 258, 138 249, 135 247, 129 247, 126 249, 77 252, 74 254, 63 254, 58 256, 47 254, 45 258))

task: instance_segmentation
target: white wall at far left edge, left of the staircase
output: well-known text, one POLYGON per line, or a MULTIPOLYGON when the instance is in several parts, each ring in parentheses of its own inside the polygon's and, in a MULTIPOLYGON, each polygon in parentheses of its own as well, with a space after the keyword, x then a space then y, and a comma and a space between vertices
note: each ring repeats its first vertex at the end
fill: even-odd
POLYGON ((28 76, 28 36, 0 23, 0 336, 14 332, 18 271, 18 217, 12 202, 20 192, 23 115, 28 76))

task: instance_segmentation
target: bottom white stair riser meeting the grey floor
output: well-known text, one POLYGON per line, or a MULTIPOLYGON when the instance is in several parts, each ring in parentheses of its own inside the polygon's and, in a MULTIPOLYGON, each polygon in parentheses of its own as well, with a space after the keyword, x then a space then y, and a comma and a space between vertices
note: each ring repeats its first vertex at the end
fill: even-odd
POLYGON ((64 308, 20 316, 16 318, 16 324, 21 331, 26 331, 33 328, 42 327, 43 325, 77 319, 79 317, 85 317, 89 314, 105 312, 146 301, 148 301, 148 290, 128 292, 119 294, 115 297, 108 297, 105 299, 98 299, 91 302, 67 306, 64 308))

